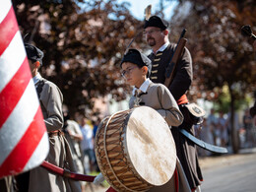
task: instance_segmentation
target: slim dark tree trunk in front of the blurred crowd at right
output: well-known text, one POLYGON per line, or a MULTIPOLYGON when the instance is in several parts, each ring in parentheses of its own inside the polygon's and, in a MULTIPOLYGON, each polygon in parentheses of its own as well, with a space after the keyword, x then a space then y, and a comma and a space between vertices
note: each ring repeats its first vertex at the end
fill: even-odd
POLYGON ((239 151, 239 136, 238 136, 238 130, 237 127, 234 125, 234 118, 235 118, 235 109, 234 109, 234 96, 233 92, 230 86, 229 88, 229 94, 231 97, 230 100, 230 134, 231 134, 231 145, 232 145, 232 151, 233 154, 237 154, 239 151))

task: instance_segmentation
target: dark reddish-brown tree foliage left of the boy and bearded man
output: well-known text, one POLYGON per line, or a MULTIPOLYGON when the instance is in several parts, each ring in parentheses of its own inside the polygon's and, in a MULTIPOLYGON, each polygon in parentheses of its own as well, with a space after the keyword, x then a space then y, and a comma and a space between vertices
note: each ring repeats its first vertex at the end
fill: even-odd
MULTIPOLYGON (((125 98, 120 77, 125 47, 141 29, 128 3, 116 0, 13 0, 25 41, 44 52, 42 76, 62 91, 71 115, 94 107, 94 98, 125 98)), ((142 10, 143 11, 143 10, 142 10)), ((133 42, 138 46, 137 38, 133 42)))

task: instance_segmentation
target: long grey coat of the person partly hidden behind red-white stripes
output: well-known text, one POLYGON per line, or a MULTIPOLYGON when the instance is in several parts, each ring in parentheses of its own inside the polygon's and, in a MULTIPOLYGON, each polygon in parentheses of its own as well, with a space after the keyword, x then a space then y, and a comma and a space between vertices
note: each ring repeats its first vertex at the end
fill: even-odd
MULTIPOLYGON (((47 131, 60 130, 63 126, 62 100, 63 96, 56 85, 41 78, 35 84, 47 131)), ((68 142, 62 135, 49 137, 50 150, 46 161, 73 172, 76 168, 72 159, 68 142)), ((52 174, 38 166, 30 173, 30 192, 77 192, 81 191, 78 181, 52 174)))

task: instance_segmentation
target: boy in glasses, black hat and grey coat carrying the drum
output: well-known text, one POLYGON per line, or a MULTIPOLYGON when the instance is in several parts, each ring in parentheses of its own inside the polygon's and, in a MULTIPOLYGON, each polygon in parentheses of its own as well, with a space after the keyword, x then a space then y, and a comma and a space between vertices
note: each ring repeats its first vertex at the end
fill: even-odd
MULTIPOLYGON (((138 51, 129 49, 124 55, 120 67, 122 76, 130 86, 134 86, 129 107, 146 105, 156 109, 165 119, 168 126, 179 126, 183 121, 174 97, 162 84, 155 84, 148 79, 151 73, 151 60, 138 51)), ((171 179, 164 185, 154 187, 150 192, 190 191, 183 168, 177 159, 176 170, 171 179)))

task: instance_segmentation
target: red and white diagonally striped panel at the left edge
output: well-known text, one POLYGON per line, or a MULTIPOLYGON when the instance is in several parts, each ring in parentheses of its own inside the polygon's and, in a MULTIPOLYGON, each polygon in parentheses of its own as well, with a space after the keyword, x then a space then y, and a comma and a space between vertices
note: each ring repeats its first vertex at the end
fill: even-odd
POLYGON ((0 1, 0 178, 38 166, 48 136, 11 0, 0 1))

